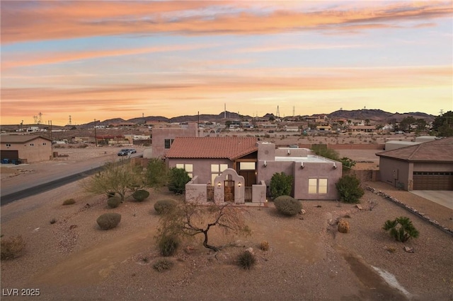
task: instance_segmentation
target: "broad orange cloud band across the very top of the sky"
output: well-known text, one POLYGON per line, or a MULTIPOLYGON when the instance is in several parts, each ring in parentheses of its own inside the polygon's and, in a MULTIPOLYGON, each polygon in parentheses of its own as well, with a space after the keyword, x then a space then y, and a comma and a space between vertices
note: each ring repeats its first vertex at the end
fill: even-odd
MULTIPOLYGON (((389 27, 401 20, 451 18, 451 3, 403 2, 379 7, 294 11, 286 6, 256 13, 260 2, 219 1, 42 1, 37 8, 2 4, 1 42, 53 40, 100 35, 178 33, 264 34, 292 30, 364 30, 389 27), (195 13, 210 6, 242 8, 242 13, 195 13), (208 18, 209 17, 209 18, 208 18)), ((278 6, 277 6, 278 7, 278 6)), ((214 9, 214 8, 212 8, 214 9)))

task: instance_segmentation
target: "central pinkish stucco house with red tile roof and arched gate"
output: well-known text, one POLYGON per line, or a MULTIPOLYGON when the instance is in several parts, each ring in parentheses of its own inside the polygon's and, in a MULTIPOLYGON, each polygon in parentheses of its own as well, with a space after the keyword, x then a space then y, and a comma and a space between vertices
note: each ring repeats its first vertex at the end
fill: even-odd
POLYGON ((275 172, 293 176, 295 199, 333 200, 342 176, 340 162, 251 137, 176 137, 166 163, 188 172, 185 197, 197 202, 264 203, 275 172))

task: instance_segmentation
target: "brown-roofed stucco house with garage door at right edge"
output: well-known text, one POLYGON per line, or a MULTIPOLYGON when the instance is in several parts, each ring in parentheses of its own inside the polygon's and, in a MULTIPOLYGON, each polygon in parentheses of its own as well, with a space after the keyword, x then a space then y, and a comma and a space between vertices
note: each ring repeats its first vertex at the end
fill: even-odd
POLYGON ((404 190, 453 190, 453 137, 377 153, 382 182, 404 190))

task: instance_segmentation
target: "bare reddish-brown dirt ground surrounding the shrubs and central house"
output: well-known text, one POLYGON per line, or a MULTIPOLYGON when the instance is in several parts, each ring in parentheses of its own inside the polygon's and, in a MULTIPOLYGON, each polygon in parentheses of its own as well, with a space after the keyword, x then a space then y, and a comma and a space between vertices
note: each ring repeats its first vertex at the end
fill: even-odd
MULTIPOLYGON (((72 152, 64 166, 93 150, 72 152)), ((28 168, 39 177, 38 168, 28 168)), ((6 173, 1 173, 3 184, 6 173)), ((453 211, 426 206, 429 201, 383 183, 367 184, 415 208, 425 206, 453 228, 453 211)), ((306 214, 284 218, 272 202, 244 207, 251 236, 214 232, 213 244, 228 245, 217 255, 199 240, 185 242, 171 257, 173 268, 159 273, 152 268, 161 258, 154 243, 159 225, 154 203, 168 198, 176 197, 151 191, 147 201, 109 209, 105 196, 88 196, 74 182, 2 206, 1 234, 22 235, 26 247, 22 256, 1 262, 1 288, 39 288, 36 300, 453 300, 452 236, 369 191, 362 211, 336 201, 303 201, 306 214), (68 198, 76 203, 62 206, 68 198), (372 211, 369 200, 377 202, 372 211), (122 214, 120 225, 100 230, 96 218, 112 211, 122 214), (336 230, 336 218, 344 216, 349 216, 348 234, 336 230), (398 216, 413 220, 418 239, 402 244, 382 230, 385 220, 398 216), (269 251, 258 248, 262 240, 269 242, 269 251), (245 271, 236 266, 236 254, 248 247, 258 263, 245 271)))

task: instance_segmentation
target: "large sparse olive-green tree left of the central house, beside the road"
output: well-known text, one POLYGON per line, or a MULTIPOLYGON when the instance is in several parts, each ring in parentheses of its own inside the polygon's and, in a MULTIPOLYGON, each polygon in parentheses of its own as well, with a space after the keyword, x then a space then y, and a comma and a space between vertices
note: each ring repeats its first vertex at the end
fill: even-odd
POLYGON ((130 160, 105 163, 103 170, 82 182, 85 191, 92 194, 115 192, 124 201, 135 190, 145 187, 142 167, 130 160))

